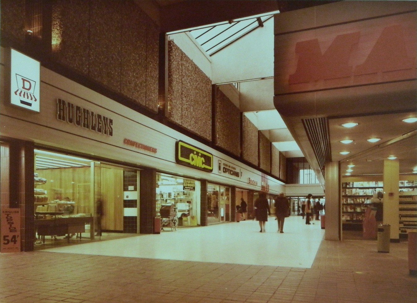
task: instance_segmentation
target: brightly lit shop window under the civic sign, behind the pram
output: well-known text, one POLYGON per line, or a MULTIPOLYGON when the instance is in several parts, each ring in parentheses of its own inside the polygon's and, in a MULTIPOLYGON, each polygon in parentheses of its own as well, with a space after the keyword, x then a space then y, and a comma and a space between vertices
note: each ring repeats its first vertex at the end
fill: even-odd
POLYGON ((189 178, 156 174, 156 213, 162 227, 176 217, 178 227, 201 224, 201 182, 189 178))

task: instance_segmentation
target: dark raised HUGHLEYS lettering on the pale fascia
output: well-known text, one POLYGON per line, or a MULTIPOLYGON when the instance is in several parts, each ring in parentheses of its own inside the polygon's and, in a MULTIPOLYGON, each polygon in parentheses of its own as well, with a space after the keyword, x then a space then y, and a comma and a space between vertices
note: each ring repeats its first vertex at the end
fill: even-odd
POLYGON ((75 126, 90 129, 101 134, 113 136, 113 119, 62 99, 56 100, 56 119, 67 121, 75 126))

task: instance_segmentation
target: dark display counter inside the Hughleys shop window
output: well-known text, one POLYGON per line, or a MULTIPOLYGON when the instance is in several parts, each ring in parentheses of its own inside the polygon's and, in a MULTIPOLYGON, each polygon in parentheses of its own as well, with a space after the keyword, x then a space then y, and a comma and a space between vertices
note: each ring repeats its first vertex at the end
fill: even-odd
MULTIPOLYGON (((36 213, 39 215, 40 213, 36 213)), ((53 214, 50 214, 53 215, 53 214)), ((51 219, 35 219, 38 236, 45 243, 45 236, 68 236, 85 232, 85 224, 90 224, 90 239, 94 239, 94 217, 53 217, 51 219)), ((80 236, 81 237, 81 236, 80 236)))

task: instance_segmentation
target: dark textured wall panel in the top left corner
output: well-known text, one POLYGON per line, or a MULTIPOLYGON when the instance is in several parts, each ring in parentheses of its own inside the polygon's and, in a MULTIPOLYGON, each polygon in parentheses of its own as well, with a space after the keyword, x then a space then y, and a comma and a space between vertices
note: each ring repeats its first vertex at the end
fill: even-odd
POLYGON ((25 0, 1 0, 1 32, 25 41, 25 0))

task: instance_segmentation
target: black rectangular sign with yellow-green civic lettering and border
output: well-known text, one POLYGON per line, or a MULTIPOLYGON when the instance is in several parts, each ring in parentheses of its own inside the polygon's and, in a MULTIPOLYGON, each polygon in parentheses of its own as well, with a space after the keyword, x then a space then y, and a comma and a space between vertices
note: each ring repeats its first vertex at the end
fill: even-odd
POLYGON ((175 143, 175 161, 204 172, 213 171, 213 155, 181 140, 175 143))

